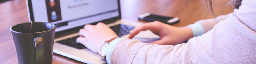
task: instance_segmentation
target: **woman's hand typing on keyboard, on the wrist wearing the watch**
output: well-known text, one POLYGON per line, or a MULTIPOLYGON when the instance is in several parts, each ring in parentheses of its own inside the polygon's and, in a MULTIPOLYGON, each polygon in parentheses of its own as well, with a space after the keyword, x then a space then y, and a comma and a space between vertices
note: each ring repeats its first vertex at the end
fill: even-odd
POLYGON ((79 35, 76 42, 85 45, 95 53, 99 53, 99 48, 104 41, 117 37, 113 30, 101 22, 97 25, 85 25, 84 29, 80 29, 79 35))

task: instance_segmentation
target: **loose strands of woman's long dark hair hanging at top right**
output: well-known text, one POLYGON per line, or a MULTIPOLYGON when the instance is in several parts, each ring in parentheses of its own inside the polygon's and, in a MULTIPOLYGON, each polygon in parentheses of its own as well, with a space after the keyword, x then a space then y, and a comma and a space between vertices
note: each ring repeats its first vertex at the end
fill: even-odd
MULTIPOLYGON (((233 4, 234 9, 238 9, 242 5, 242 0, 231 0, 227 5, 233 4)), ((212 0, 205 0, 205 6, 210 11, 213 17, 216 17, 212 9, 212 0), (209 4, 208 4, 209 3, 209 4)))

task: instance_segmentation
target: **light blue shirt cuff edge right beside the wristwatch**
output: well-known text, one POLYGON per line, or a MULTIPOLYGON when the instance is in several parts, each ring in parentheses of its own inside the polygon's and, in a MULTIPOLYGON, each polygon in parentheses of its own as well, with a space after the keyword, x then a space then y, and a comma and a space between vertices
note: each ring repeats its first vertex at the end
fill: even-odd
POLYGON ((109 46, 107 47, 107 50, 106 50, 106 61, 108 64, 111 64, 111 59, 110 59, 111 53, 112 53, 114 47, 116 46, 116 44, 120 40, 123 40, 123 38, 116 38, 115 40, 113 40, 109 43, 109 46))

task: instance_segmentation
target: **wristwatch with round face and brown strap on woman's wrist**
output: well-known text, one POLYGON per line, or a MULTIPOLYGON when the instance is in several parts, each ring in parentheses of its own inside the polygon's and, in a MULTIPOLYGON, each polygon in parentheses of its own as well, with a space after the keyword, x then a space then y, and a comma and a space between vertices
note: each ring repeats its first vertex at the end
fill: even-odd
MULTIPOLYGON (((120 38, 120 37, 116 37, 116 38, 120 38)), ((111 40, 105 41, 100 46, 99 55, 102 56, 104 59, 106 59, 106 50, 107 50, 107 47, 109 46, 109 42, 115 40, 116 38, 112 38, 111 40)))

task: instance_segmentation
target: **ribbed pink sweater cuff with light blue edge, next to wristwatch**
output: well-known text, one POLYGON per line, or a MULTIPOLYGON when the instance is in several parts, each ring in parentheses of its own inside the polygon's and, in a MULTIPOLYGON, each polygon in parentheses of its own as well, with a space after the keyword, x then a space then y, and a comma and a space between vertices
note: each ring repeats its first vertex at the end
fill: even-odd
POLYGON ((108 64, 131 64, 140 47, 148 45, 139 40, 118 38, 110 42, 106 51, 108 64))

